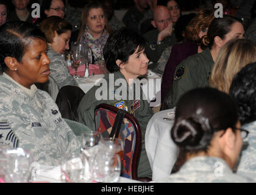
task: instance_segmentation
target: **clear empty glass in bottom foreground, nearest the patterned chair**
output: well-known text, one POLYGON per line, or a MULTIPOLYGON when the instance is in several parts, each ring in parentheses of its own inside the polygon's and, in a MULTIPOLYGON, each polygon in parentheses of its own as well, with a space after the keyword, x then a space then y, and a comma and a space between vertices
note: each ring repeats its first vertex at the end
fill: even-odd
POLYGON ((121 174, 121 161, 117 154, 99 151, 94 156, 91 167, 93 182, 118 182, 121 174))

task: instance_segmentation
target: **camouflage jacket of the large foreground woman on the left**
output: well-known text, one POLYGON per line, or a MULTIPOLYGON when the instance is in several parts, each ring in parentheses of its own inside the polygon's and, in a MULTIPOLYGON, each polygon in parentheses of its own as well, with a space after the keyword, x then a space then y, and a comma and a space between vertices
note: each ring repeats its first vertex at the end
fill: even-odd
POLYGON ((60 165, 64 155, 77 151, 79 141, 51 96, 32 88, 33 98, 0 76, 0 144, 23 148, 41 165, 60 165))

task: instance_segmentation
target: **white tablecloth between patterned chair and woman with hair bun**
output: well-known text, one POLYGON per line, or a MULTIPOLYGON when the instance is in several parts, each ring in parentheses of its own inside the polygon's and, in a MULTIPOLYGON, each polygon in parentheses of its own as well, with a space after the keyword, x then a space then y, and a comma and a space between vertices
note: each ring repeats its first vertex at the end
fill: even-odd
POLYGON ((168 177, 179 154, 170 133, 174 123, 174 111, 175 109, 169 109, 157 112, 148 122, 145 146, 152 169, 152 180, 168 177), (171 118, 171 121, 163 118, 171 118))

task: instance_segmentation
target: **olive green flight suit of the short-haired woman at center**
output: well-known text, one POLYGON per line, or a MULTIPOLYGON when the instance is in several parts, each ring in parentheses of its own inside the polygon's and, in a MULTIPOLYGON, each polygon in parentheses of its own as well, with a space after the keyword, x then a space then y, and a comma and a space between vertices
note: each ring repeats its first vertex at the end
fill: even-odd
MULTIPOLYGON (((129 93, 130 93, 129 86, 126 82, 125 77, 119 71, 112 74, 107 74, 103 78, 103 81, 105 82, 105 84, 107 84, 107 86, 105 86, 104 82, 102 82, 101 86, 95 85, 85 94, 85 96, 80 101, 80 104, 77 108, 79 122, 82 122, 83 124, 86 124, 88 127, 90 127, 90 129, 95 130, 94 108, 96 107, 96 105, 99 105, 102 103, 114 105, 115 107, 118 107, 118 108, 123 108, 127 112, 133 114, 133 116, 137 119, 141 127, 141 154, 140 154, 140 160, 138 165, 138 177, 152 177, 152 170, 151 170, 151 166, 149 165, 148 156, 146 154, 145 140, 144 140, 146 126, 148 124, 149 119, 154 114, 151 108, 149 107, 148 101, 143 100, 143 98, 141 98, 141 96, 143 96, 143 93, 141 93, 142 91, 141 89, 139 94, 140 97, 138 96, 138 94, 133 93, 133 97, 135 98, 133 99, 127 98, 129 97, 129 93), (116 83, 120 80, 123 81, 123 83, 119 84, 118 86, 114 86, 114 83, 116 85, 116 83), (118 100, 116 98, 119 94, 117 91, 118 91, 118 88, 123 85, 127 89, 126 98, 122 98, 118 100), (99 98, 96 98, 100 94, 99 92, 100 89, 107 91, 107 96, 106 96, 106 99, 104 100, 98 100, 99 98), (139 101, 137 101, 138 99, 139 101)), ((104 94, 104 91, 102 94, 104 94)))

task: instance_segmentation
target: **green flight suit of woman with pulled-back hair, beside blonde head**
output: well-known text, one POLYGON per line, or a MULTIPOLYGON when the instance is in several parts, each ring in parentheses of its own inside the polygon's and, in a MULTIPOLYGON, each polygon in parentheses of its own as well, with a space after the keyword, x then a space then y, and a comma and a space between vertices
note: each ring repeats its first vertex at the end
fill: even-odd
POLYGON ((172 85, 172 105, 176 107, 180 96, 189 90, 208 86, 214 62, 210 49, 194 54, 177 66, 172 85))

